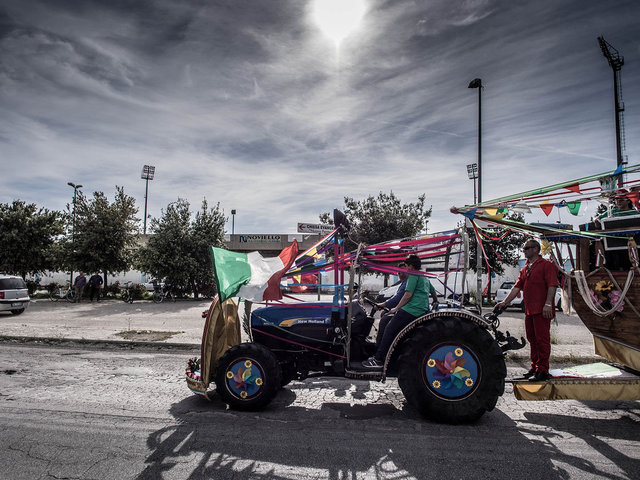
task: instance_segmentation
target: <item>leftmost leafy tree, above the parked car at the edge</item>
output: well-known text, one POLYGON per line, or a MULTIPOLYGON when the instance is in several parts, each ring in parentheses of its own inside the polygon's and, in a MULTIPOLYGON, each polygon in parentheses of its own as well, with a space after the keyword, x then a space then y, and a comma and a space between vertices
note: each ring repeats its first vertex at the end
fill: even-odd
POLYGON ((21 200, 0 204, 0 271, 25 278, 55 269, 55 241, 63 232, 61 212, 21 200))

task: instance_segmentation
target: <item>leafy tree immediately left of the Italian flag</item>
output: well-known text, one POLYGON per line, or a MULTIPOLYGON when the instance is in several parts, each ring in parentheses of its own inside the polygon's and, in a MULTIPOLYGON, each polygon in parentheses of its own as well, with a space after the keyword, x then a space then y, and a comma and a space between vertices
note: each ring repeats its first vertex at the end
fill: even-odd
POLYGON ((139 249, 136 265, 156 278, 198 294, 198 286, 213 283, 209 246, 224 246, 226 218, 220 205, 209 208, 203 200, 192 221, 189 202, 170 203, 162 216, 151 220, 153 235, 139 249))

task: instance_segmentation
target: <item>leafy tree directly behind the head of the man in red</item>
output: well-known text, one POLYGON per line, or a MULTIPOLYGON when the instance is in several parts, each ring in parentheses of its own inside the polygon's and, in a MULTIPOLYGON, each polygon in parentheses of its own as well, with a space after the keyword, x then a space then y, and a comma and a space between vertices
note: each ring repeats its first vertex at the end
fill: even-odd
MULTIPOLYGON (((514 220, 516 222, 524 222, 524 215, 520 213, 512 213, 505 217, 508 220, 514 220)), ((476 235, 472 227, 467 228, 469 234, 469 266, 473 271, 476 269, 476 258, 478 251, 478 242, 476 241, 476 235)), ((520 248, 522 244, 527 240, 527 235, 521 232, 509 231, 503 236, 503 231, 496 230, 494 233, 491 231, 483 232, 485 236, 481 235, 482 244, 484 246, 484 252, 486 253, 486 262, 489 264, 489 268, 492 273, 496 275, 502 275, 504 273, 505 265, 515 267, 518 265, 520 259, 520 248), (497 240, 493 240, 497 239, 497 240)), ((482 255, 482 270, 486 270, 486 263, 482 255)), ((489 287, 488 292, 491 292, 491 275, 489 275, 489 287)))

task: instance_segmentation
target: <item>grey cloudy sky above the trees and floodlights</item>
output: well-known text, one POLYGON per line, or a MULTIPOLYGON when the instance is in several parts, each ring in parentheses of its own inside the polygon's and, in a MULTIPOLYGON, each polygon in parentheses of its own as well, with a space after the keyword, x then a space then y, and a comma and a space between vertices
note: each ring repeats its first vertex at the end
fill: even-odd
POLYGON ((237 209, 236 233, 293 233, 393 191, 451 228, 473 201, 476 77, 484 200, 615 168, 600 35, 625 58, 640 163, 640 2, 363 0, 346 21, 352 1, 320 22, 305 0, 3 0, 0 202, 119 185, 142 217, 150 164, 153 216, 206 197, 237 209))

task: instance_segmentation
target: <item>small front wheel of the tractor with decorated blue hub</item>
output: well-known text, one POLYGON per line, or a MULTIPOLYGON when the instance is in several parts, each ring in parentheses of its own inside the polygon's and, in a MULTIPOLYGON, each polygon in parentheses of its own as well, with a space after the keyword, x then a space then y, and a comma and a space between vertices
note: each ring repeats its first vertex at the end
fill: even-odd
POLYGON ((216 368, 216 389, 235 410, 259 410, 275 397, 282 371, 275 355, 256 343, 241 343, 225 352, 216 368))

